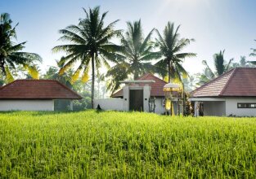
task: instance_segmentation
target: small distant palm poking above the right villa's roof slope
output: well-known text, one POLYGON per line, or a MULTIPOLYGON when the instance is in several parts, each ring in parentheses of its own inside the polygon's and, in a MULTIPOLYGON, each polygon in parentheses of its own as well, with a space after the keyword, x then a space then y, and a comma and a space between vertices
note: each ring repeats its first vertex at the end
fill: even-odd
POLYGON ((200 74, 199 85, 203 85, 231 69, 233 59, 230 59, 228 63, 225 63, 224 52, 225 50, 220 50, 218 54, 213 55, 215 72, 209 68, 206 60, 203 60, 202 63, 204 64, 205 68, 204 72, 200 74))

